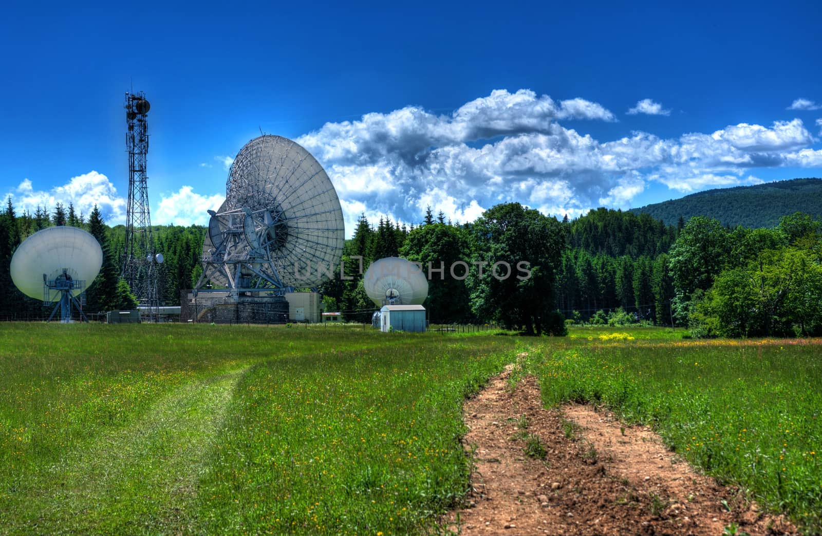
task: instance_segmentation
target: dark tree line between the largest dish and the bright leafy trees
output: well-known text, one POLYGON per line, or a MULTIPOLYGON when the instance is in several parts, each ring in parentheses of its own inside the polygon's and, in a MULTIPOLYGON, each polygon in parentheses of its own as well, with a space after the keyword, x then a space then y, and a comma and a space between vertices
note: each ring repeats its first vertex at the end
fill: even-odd
MULTIPOLYGON (((679 229, 684 223, 679 224, 679 229)), ((518 203, 498 205, 468 224, 451 224, 427 210, 421 224, 406 229, 382 218, 375 226, 364 215, 346 242, 347 274, 384 256, 402 256, 432 270, 424 304, 435 324, 501 322, 526 332, 561 331, 565 319, 607 321, 621 308, 623 319, 667 323, 674 297, 667 251, 677 238, 676 225, 649 215, 598 209, 579 219, 558 222, 518 203), (452 275, 450 266, 469 265, 452 275), (498 280, 479 275, 478 263, 528 261, 530 277, 498 280), (629 313, 630 312, 630 313, 629 313), (527 321, 526 319, 530 319, 527 321), (530 327, 529 327, 530 324, 530 327)), ((428 275, 428 274, 427 274, 428 275)), ((341 310, 353 321, 367 321, 374 304, 362 276, 332 280, 322 292, 328 310, 341 310)))

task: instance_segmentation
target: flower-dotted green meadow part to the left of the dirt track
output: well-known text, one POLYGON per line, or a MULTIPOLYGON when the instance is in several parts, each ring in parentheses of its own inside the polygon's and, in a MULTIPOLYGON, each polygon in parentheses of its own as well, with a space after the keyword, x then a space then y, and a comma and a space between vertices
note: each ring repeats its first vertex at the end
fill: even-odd
POLYGON ((0 326, 0 532, 405 534, 515 337, 0 326))

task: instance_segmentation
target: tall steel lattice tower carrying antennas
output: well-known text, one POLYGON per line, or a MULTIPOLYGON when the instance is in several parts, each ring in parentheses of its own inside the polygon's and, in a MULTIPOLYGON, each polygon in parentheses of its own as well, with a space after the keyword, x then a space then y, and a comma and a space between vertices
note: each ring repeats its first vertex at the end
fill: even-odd
POLYGON ((126 93, 126 151, 128 153, 128 206, 126 211, 126 252, 122 277, 137 301, 146 309, 149 321, 159 315, 157 272, 163 262, 155 253, 151 237, 148 177, 145 157, 149 151, 148 123, 150 104, 142 91, 126 93))

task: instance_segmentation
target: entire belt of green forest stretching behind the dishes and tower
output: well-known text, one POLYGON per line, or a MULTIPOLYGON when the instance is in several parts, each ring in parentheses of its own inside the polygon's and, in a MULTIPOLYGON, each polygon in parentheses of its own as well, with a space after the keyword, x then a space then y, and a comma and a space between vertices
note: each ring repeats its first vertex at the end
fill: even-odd
MULTIPOLYGON (((44 317, 42 303, 14 287, 9 265, 26 237, 50 225, 86 229, 103 247, 87 314, 136 306, 119 276, 122 225, 106 225, 96 207, 88 217, 71 205, 18 215, 9 199, 0 214, 0 282, 8 289, 0 294, 0 319, 44 317)), ((344 246, 350 279, 335 277, 317 290, 326 311, 370 321, 375 307, 360 266, 402 256, 427 273, 432 324, 494 322, 534 335, 560 335, 567 323, 688 326, 696 336, 818 335, 820 232, 820 222, 801 212, 763 229, 730 228, 704 216, 669 224, 605 208, 559 221, 519 203, 494 206, 467 224, 430 209, 410 225, 361 215, 344 246)), ((177 305, 180 289, 201 275, 205 227, 157 225, 153 234, 165 256, 162 302, 177 305)))

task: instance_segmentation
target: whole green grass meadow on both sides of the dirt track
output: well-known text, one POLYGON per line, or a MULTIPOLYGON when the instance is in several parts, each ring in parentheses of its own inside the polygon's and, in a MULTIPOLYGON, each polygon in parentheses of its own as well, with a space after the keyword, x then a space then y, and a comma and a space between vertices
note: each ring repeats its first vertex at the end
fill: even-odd
POLYGON ((822 342, 342 326, 0 325, 0 533, 407 534, 469 462, 461 405, 514 361, 820 532, 822 342))

